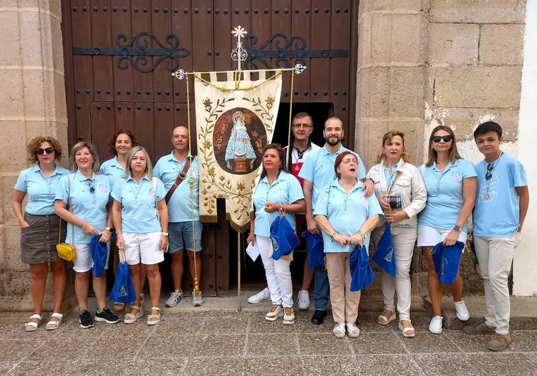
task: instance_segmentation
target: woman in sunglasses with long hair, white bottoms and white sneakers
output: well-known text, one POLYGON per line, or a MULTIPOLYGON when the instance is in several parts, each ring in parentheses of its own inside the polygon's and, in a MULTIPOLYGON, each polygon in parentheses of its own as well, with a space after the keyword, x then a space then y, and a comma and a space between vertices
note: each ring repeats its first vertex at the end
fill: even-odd
MULTIPOLYGON (((455 135, 450 127, 439 125, 429 138, 429 160, 420 167, 427 190, 425 209, 419 214, 418 241, 427 261, 427 288, 433 306, 429 331, 442 333, 442 285, 434 268, 431 250, 443 242, 452 246, 456 241, 465 243, 468 217, 475 203, 474 165, 462 159, 457 151, 455 135)), ((468 321, 470 313, 463 301, 463 279, 457 274, 449 285, 457 317, 468 321)))

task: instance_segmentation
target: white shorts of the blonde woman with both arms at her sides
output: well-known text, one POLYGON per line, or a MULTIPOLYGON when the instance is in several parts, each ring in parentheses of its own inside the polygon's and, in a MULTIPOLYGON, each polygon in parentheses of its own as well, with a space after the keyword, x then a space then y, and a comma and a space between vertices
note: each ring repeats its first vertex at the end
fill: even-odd
POLYGON ((125 258, 129 265, 142 261, 145 265, 154 265, 164 261, 164 251, 159 249, 160 232, 123 232, 125 258))

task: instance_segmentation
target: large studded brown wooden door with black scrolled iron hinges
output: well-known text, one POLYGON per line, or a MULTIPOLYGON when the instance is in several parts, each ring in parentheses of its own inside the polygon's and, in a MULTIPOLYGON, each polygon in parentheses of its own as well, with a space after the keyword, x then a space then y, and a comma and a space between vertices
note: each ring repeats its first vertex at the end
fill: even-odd
MULTIPOLYGON (((69 146, 94 142, 105 160, 113 132, 128 129, 153 161, 169 153, 171 130, 186 124, 188 111, 186 84, 171 72, 236 68, 236 25, 250 34, 244 68, 306 64, 295 76, 293 101, 332 103, 352 144, 357 8, 352 0, 62 1, 69 146)), ((284 79, 282 101, 289 98, 284 79)), ((195 151, 194 127, 191 137, 195 151)), ((219 223, 204 224, 206 295, 229 288, 228 227, 220 213, 219 223)))

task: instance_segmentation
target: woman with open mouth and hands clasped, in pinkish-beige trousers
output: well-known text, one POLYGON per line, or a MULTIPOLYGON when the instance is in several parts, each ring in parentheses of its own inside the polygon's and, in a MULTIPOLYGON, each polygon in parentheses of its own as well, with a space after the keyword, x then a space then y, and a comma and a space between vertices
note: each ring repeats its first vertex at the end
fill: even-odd
POLYGON ((336 179, 322 189, 315 205, 315 222, 322 229, 326 255, 330 303, 337 338, 356 338, 361 291, 351 291, 349 256, 356 246, 369 245, 369 233, 375 228, 383 211, 376 198, 366 198, 358 181, 358 159, 353 152, 342 152, 334 163, 336 179))

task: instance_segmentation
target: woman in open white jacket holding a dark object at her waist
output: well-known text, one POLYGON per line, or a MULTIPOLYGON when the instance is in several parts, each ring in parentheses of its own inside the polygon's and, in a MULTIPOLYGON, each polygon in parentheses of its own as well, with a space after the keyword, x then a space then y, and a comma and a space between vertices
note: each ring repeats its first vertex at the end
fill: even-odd
POLYGON ((414 337, 416 331, 410 321, 410 263, 417 239, 417 214, 423 210, 426 190, 416 167, 409 163, 405 148, 405 134, 397 130, 386 132, 378 164, 371 167, 368 178, 375 183, 375 195, 383 208, 384 223, 371 234, 375 248, 390 224, 395 256, 395 277, 383 270, 380 287, 383 291, 384 310, 378 324, 388 325, 395 320, 394 295, 397 293, 399 328, 405 337, 414 337))

